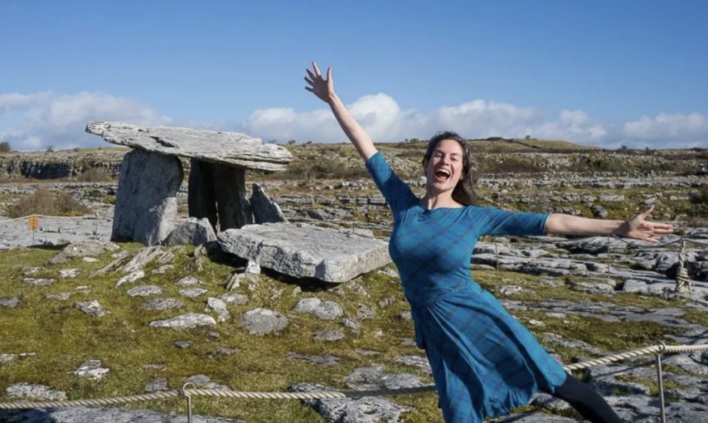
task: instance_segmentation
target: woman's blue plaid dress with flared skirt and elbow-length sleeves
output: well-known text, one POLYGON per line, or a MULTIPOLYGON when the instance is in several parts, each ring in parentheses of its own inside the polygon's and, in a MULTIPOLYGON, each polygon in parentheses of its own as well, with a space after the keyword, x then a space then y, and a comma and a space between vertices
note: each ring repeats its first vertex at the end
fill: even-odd
POLYGON ((389 253, 411 303, 445 422, 482 422, 566 379, 561 364, 470 277, 484 235, 542 235, 547 214, 493 207, 429 210, 377 152, 366 162, 394 216, 389 253))

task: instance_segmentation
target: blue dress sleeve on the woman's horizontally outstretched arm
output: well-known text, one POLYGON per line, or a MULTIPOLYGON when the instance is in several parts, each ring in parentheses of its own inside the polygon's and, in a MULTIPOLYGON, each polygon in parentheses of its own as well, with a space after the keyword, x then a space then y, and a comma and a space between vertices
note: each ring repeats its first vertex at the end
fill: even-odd
POLYGON ((546 234, 547 213, 510 212, 495 207, 480 207, 479 212, 479 236, 546 234))

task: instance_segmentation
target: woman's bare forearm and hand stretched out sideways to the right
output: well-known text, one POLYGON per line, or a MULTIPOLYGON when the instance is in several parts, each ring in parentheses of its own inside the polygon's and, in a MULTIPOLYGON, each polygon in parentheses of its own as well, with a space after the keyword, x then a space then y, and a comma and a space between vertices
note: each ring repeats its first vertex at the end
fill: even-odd
POLYGON ((653 209, 653 206, 649 207, 627 221, 551 214, 546 221, 546 232, 558 235, 617 235, 658 243, 653 237, 673 233, 673 226, 647 221, 653 209))

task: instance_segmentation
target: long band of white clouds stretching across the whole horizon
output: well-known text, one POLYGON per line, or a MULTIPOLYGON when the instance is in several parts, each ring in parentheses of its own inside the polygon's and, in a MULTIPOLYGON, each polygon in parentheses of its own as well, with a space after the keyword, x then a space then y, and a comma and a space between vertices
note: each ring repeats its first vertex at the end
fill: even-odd
MULTIPOLYGON (((708 118, 700 113, 660 113, 639 120, 605 122, 583 110, 561 110, 547 115, 532 107, 487 100, 445 105, 428 113, 404 110, 384 93, 365 95, 348 110, 375 141, 427 139, 435 132, 453 130, 464 137, 563 139, 578 144, 617 148, 652 148, 708 145, 708 118)), ((296 112, 292 108, 254 111, 244 122, 172 122, 156 110, 129 98, 106 93, 52 92, 0 94, 0 141, 13 149, 57 149, 73 146, 105 146, 105 141, 84 132, 92 120, 115 120, 143 125, 178 124, 184 127, 245 132, 264 140, 284 142, 345 141, 329 108, 296 112)))

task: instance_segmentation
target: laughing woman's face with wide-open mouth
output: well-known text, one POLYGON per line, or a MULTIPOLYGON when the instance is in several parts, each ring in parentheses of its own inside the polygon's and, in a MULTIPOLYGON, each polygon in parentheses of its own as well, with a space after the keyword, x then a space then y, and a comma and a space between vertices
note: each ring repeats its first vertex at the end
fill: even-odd
POLYGON ((464 173, 462 166, 462 146, 454 139, 443 139, 433 150, 426 163, 428 187, 435 192, 454 190, 464 173))

